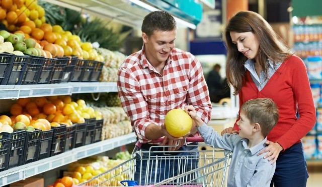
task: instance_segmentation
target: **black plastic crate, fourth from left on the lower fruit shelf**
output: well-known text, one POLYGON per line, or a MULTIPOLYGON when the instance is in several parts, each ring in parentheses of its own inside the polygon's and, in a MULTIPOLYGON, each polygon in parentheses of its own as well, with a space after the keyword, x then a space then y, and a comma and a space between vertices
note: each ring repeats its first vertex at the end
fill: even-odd
POLYGON ((39 150, 38 160, 43 158, 48 158, 50 156, 50 148, 51 148, 53 133, 54 133, 53 129, 41 131, 40 150, 39 150))

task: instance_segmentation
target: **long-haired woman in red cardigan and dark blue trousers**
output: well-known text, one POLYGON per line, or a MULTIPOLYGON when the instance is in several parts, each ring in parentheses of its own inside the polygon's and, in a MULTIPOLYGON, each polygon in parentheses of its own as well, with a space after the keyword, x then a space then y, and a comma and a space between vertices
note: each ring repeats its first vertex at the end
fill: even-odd
MULTIPOLYGON (((258 153, 266 154, 264 158, 272 163, 276 161, 271 186, 306 186, 301 138, 314 126, 316 115, 303 61, 257 13, 237 13, 224 34, 227 81, 239 96, 239 106, 250 99, 268 97, 279 108, 279 121, 267 136, 268 146, 258 153)), ((238 133, 237 124, 224 132, 238 133)))

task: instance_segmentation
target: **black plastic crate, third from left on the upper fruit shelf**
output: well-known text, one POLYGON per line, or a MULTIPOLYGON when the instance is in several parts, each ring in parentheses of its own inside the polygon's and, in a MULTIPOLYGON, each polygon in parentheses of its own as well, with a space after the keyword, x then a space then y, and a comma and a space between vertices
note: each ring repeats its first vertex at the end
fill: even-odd
POLYGON ((44 57, 31 55, 21 84, 37 84, 44 63, 44 57))

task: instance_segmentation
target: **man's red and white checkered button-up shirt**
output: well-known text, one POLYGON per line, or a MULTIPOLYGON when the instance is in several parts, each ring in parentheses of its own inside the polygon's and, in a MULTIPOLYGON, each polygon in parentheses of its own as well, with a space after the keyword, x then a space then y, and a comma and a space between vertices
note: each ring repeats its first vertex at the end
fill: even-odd
POLYGON ((172 50, 160 75, 147 61, 143 46, 120 67, 117 88, 140 143, 149 141, 145 128, 151 123, 164 124, 171 109, 193 105, 206 124, 211 118, 212 106, 201 64, 191 53, 177 48, 172 50))

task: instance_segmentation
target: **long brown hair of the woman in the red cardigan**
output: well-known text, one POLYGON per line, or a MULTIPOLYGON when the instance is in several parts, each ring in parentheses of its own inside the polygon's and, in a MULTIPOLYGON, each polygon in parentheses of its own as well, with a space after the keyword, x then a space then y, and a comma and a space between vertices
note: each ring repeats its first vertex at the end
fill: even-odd
POLYGON ((267 59, 274 63, 289 58, 292 52, 277 36, 273 28, 259 14, 251 11, 241 11, 234 15, 225 28, 224 42, 227 48, 226 76, 228 84, 234 88, 234 95, 237 95, 243 86, 246 77, 244 63, 247 61, 237 46, 231 42, 230 32, 246 33, 252 32, 259 41, 259 63, 267 75, 267 59))

